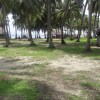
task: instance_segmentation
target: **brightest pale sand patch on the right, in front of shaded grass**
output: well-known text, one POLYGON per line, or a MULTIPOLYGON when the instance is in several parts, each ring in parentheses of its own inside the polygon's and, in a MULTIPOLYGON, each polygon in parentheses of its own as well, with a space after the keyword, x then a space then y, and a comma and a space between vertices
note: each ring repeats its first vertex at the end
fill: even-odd
POLYGON ((64 73, 72 73, 75 71, 95 71, 100 68, 100 61, 80 56, 64 56, 63 58, 51 61, 52 68, 64 68, 64 73))

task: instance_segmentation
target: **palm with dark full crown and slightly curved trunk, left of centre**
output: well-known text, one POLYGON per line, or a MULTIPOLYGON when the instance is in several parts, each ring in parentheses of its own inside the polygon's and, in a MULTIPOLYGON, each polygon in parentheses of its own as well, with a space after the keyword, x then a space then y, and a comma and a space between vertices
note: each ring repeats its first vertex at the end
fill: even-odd
POLYGON ((32 22, 34 22, 33 16, 39 12, 39 2, 37 2, 36 0, 17 0, 15 1, 13 12, 16 12, 18 18, 22 20, 22 22, 28 29, 30 45, 35 45, 32 38, 31 26, 32 22))

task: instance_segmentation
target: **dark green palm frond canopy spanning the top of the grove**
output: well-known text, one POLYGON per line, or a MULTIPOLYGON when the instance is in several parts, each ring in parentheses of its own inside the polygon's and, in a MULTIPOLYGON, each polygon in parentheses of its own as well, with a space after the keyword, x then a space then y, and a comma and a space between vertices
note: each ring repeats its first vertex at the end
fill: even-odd
MULTIPOLYGON (((100 0, 86 1, 87 5, 92 2, 91 11, 99 16, 100 0)), ((9 13, 13 14, 14 25, 17 28, 28 30, 31 44, 34 43, 31 34, 33 30, 45 32, 49 29, 48 33, 50 33, 51 29, 56 28, 61 29, 63 35, 63 27, 70 29, 71 33, 73 29, 83 30, 84 27, 88 29, 88 25, 86 26, 85 21, 82 21, 82 12, 85 9, 83 2, 84 0, 0 0, 0 9, 3 16, 1 21, 4 33, 6 33, 6 41, 9 40, 8 29, 5 28, 9 13), (82 28, 80 28, 81 26, 82 28)), ((99 19, 95 17, 95 20, 99 19)), ((95 28, 99 26, 98 23, 93 25, 95 28)), ((50 34, 48 36, 51 37, 50 34)))

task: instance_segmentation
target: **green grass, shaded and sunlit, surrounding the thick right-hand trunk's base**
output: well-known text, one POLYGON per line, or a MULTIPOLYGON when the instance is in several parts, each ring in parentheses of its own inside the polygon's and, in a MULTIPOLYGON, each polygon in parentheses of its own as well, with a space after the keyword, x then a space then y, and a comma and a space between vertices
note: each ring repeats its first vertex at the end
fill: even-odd
MULTIPOLYGON (((100 48, 92 47, 92 52, 84 52, 86 45, 86 38, 82 38, 81 42, 66 40, 67 45, 60 47, 59 49, 70 55, 81 55, 82 57, 90 57, 94 59, 100 59, 100 48)), ((91 45, 96 44, 96 39, 91 39, 91 45)))

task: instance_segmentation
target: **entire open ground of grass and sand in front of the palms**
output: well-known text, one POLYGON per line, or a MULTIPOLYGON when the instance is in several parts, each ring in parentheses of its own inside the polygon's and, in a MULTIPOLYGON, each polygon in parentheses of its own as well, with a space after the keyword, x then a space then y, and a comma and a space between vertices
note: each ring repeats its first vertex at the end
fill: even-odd
POLYGON ((44 40, 36 47, 12 41, 0 46, 0 100, 100 100, 100 48, 84 53, 85 41, 55 40, 55 49, 44 40))

